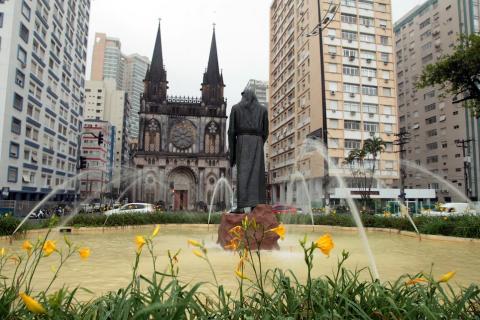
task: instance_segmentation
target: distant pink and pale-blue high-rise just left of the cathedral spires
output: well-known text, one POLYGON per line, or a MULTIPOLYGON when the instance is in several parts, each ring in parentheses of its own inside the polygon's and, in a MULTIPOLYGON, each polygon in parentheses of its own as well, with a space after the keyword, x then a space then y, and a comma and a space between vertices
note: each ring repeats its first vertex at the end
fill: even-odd
POLYGON ((95 34, 92 56, 91 80, 114 79, 118 90, 128 93, 131 104, 129 138, 138 138, 138 113, 143 80, 150 60, 139 54, 122 53, 119 39, 107 37, 104 33, 95 34))

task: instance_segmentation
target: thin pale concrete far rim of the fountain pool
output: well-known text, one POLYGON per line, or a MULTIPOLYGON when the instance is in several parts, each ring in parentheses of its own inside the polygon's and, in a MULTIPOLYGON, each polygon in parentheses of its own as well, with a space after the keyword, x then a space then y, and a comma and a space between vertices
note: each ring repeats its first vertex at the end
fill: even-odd
MULTIPOLYGON (((329 228, 332 230, 341 230, 341 231, 357 231, 357 227, 343 227, 343 226, 331 226, 331 225, 305 225, 305 224, 285 224, 287 226, 287 233, 288 233, 288 226, 294 226, 295 228, 329 228)), ((96 233, 96 232, 111 232, 111 231, 123 231, 123 230, 135 230, 135 229, 147 229, 147 228, 154 228, 155 224, 146 224, 146 225, 129 225, 129 226, 119 226, 119 227, 64 227, 62 228, 65 230, 65 234, 82 234, 82 233, 96 233)), ((186 224, 186 223, 171 223, 171 224, 160 224, 160 230, 162 226, 168 227, 187 227, 190 228, 192 226, 201 227, 201 228, 218 228, 217 224, 186 224)), ((48 229, 33 229, 27 230, 26 233, 18 234, 20 238, 24 238, 27 235, 40 235, 45 234, 48 229)), ((383 233, 390 233, 390 234, 398 234, 404 237, 410 238, 418 238, 418 235, 412 231, 404 231, 398 229, 390 229, 390 228, 365 228, 368 233, 373 232, 383 232, 383 233)), ((58 228, 52 229, 52 231, 59 231, 58 228)), ((445 236, 445 235, 436 235, 436 234, 420 234, 422 240, 436 240, 436 241, 450 241, 450 242, 471 242, 471 243, 480 243, 480 239, 475 238, 462 238, 462 237, 454 237, 454 236, 445 236)), ((1 236, 0 239, 2 240, 9 240, 10 236, 1 236)))

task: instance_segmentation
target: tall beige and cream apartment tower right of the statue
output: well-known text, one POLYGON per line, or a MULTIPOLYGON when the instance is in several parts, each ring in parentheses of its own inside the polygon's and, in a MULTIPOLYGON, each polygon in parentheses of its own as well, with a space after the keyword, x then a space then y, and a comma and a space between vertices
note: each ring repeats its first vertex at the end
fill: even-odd
MULTIPOLYGON (((323 16, 332 1, 320 2, 323 16)), ((393 149, 398 128, 390 0, 333 4, 338 10, 323 30, 323 57, 319 37, 311 36, 319 24, 316 0, 275 0, 270 8, 269 165, 274 202, 286 200, 296 171, 307 179, 312 199, 323 195, 323 160, 318 155, 299 157, 304 140, 324 131, 321 81, 328 155, 335 164, 329 175, 343 176, 349 187, 359 187, 343 162, 351 150, 375 136, 387 142, 376 163, 376 186, 392 186, 399 178, 393 149)), ((369 159, 366 163, 373 164, 369 159)), ((336 185, 330 180, 332 194, 336 185)))

